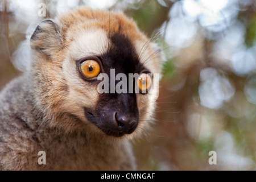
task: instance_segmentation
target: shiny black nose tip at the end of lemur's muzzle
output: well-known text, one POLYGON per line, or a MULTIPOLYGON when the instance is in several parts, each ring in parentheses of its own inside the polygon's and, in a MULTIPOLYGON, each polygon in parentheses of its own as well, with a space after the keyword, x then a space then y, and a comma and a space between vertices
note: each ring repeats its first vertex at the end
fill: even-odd
POLYGON ((117 112, 114 113, 114 121, 117 123, 118 130, 126 134, 133 133, 138 125, 137 119, 126 117, 117 112))

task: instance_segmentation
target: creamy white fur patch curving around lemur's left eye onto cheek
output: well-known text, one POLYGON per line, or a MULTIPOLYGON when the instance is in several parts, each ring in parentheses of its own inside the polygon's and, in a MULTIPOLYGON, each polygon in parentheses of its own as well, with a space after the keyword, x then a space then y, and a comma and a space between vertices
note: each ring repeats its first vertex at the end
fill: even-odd
POLYGON ((76 61, 87 56, 101 55, 107 51, 107 48, 108 37, 102 29, 80 32, 75 36, 63 62, 63 74, 70 87, 67 100, 72 101, 63 105, 66 109, 76 108, 76 114, 81 115, 81 108, 96 100, 97 90, 91 85, 86 85, 86 81, 80 78, 76 61))

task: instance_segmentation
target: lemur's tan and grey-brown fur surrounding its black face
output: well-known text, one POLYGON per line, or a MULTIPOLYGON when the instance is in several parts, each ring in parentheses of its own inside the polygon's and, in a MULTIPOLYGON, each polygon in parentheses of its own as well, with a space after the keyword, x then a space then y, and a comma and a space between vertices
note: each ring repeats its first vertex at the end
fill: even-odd
MULTIPOLYGON (((105 35, 122 32, 137 53, 148 39, 122 13, 78 7, 54 21, 57 27, 51 21, 39 24, 40 31, 31 39, 29 71, 0 94, 0 169, 135 169, 129 139, 150 126, 155 101, 148 97, 156 92, 138 94, 141 122, 133 134, 109 137, 84 117, 84 106, 94 108, 98 92, 79 78, 74 61, 80 56, 77 52, 86 51, 86 45, 79 46, 82 36, 95 34, 91 47, 101 51, 106 50, 105 35), (39 166, 41 150, 46 151, 47 164, 39 166)), ((154 52, 149 44, 141 61, 154 52)), ((160 59, 153 56, 146 64, 152 73, 160 72, 160 59)))

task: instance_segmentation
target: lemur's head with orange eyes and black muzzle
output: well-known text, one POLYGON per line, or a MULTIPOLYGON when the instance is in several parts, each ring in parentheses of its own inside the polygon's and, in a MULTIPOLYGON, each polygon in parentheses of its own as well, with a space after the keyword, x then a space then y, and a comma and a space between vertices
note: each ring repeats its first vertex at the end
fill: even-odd
POLYGON ((30 42, 35 105, 48 126, 121 137, 143 133, 150 125, 158 94, 153 77, 160 72, 162 57, 133 20, 79 7, 43 20, 30 42), (127 82, 127 88, 119 85, 127 92, 111 88, 118 86, 119 73, 127 76, 119 78, 127 82), (136 86, 129 92, 130 73, 138 74, 131 82, 146 93, 135 92, 136 86), (99 79, 104 74, 109 80, 99 79), (104 80, 109 88, 102 89, 109 92, 100 93, 98 85, 104 80))

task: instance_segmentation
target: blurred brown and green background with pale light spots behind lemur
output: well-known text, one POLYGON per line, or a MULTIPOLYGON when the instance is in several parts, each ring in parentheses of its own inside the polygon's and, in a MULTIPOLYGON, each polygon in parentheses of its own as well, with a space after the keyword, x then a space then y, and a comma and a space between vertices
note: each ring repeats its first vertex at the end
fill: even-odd
POLYGON ((167 61, 154 130, 134 142, 138 169, 256 169, 255 0, 1 0, 0 89, 20 74, 13 55, 41 2, 46 18, 88 5, 124 11, 149 38, 160 31, 167 61))

